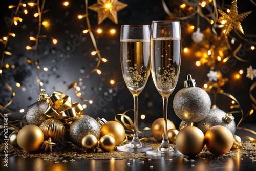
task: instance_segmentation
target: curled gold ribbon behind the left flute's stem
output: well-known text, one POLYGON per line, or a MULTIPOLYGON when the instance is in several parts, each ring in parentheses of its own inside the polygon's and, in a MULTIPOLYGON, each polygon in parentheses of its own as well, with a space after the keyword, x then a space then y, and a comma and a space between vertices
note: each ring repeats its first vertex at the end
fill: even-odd
MULTIPOLYGON (((124 125, 125 132, 128 132, 130 134, 126 134, 127 136, 133 136, 133 132, 134 132, 134 123, 132 121, 132 119, 126 115, 127 112, 129 111, 133 111, 133 109, 129 109, 127 111, 125 111, 122 114, 116 114, 115 116, 115 121, 121 123, 122 125, 124 125), (117 118, 118 116, 120 116, 120 120, 117 118), (128 123, 126 123, 125 119, 128 121, 128 123)), ((142 130, 138 130, 139 133, 146 131, 146 130, 151 130, 150 127, 144 127, 142 130)))

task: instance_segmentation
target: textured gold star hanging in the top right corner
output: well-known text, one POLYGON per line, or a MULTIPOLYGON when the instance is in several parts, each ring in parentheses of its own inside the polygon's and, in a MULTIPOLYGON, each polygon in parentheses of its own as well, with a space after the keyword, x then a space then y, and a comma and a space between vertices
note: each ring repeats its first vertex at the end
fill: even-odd
POLYGON ((233 0, 230 12, 228 14, 223 12, 220 9, 218 9, 218 12, 222 15, 218 19, 218 22, 225 24, 225 31, 223 31, 225 36, 231 30, 233 30, 233 28, 236 28, 237 30, 239 30, 241 33, 244 34, 244 31, 240 22, 242 22, 242 20, 246 18, 251 13, 251 11, 238 14, 237 0, 233 0))

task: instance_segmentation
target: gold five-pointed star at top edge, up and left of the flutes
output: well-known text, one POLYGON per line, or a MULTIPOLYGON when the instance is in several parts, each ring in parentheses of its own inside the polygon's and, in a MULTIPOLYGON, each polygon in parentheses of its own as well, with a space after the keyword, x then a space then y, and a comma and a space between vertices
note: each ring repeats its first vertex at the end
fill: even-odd
POLYGON ((89 6, 88 8, 98 13, 99 25, 106 18, 109 18, 112 22, 117 24, 117 12, 127 6, 127 4, 121 3, 117 0, 97 0, 97 3, 89 6))

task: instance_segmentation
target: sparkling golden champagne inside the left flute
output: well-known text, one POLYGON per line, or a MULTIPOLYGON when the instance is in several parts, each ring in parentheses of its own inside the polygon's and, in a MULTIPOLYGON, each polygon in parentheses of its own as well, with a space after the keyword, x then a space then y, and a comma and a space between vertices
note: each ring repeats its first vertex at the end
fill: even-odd
POLYGON ((139 95, 150 74, 150 40, 120 40, 122 73, 132 94, 139 95))

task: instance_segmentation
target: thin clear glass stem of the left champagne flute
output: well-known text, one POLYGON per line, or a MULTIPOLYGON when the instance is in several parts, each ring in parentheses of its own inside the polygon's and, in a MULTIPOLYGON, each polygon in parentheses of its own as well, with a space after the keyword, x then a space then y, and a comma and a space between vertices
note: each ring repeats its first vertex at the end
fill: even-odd
POLYGON ((140 143, 138 136, 138 97, 139 95, 133 95, 133 105, 134 105, 134 133, 133 133, 133 144, 140 143))

